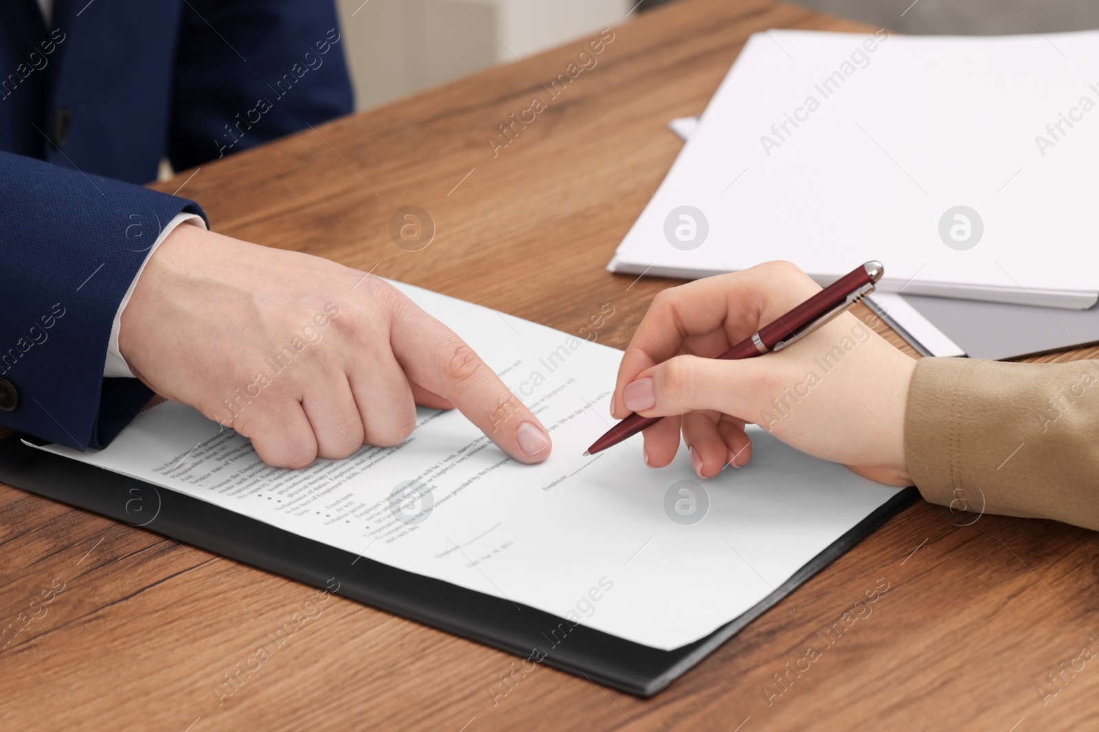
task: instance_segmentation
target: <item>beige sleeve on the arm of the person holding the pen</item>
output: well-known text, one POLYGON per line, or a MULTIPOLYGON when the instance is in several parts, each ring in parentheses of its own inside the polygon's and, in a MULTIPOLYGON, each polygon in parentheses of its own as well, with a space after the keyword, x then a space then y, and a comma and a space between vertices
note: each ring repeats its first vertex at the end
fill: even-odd
POLYGON ((1099 361, 921 359, 904 446, 931 503, 1099 529, 1099 361))

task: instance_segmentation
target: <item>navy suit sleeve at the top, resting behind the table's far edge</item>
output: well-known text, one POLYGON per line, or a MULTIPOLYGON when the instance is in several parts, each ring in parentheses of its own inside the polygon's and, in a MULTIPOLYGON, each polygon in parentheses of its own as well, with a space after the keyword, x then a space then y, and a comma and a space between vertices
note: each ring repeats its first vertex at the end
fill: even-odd
POLYGON ((190 0, 184 7, 168 139, 176 170, 352 109, 332 0, 190 0))

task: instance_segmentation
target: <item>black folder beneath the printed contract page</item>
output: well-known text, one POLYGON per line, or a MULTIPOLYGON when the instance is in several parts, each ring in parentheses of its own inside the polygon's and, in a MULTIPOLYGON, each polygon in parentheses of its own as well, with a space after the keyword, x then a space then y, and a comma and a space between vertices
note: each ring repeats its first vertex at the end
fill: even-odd
POLYGON ((36 450, 20 442, 19 436, 0 441, 0 481, 307 585, 331 588, 334 577, 340 583, 338 595, 523 658, 541 650, 545 654, 541 663, 641 697, 670 684, 919 495, 915 488, 899 492, 748 611, 689 645, 660 651, 582 624, 573 626, 543 610, 356 556, 175 491, 36 450))

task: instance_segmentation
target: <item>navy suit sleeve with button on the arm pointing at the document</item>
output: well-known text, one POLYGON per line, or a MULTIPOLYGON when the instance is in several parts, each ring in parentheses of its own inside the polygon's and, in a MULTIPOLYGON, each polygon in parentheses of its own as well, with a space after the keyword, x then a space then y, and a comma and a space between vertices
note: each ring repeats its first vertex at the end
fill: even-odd
POLYGON ((153 396, 104 379, 111 325, 160 227, 193 201, 0 153, 0 425, 106 447, 153 396))

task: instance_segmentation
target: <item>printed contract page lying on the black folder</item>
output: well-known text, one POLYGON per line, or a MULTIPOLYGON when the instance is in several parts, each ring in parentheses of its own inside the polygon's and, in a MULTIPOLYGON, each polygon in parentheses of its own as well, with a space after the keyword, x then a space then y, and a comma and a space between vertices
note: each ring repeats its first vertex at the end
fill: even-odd
POLYGON ((173 402, 103 450, 43 449, 665 650, 743 613, 897 493, 761 429, 752 462, 709 481, 686 449, 667 469, 646 468, 640 435, 584 458, 611 425, 621 351, 393 284, 533 409, 554 440, 548 460, 522 465, 459 413, 421 409, 401 446, 275 469, 246 438, 173 402), (391 499, 409 481, 428 493, 391 499))

